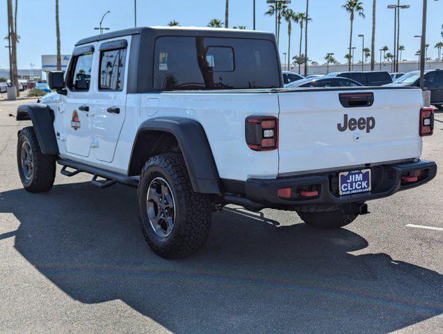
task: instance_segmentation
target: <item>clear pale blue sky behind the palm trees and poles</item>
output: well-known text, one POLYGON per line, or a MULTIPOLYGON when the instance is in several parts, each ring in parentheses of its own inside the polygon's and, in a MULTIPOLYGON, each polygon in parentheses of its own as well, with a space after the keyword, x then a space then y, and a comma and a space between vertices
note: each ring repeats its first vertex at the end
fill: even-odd
MULTIPOLYGON (((14 1, 13 1, 14 2, 14 1)), ((17 61, 20 69, 41 68, 42 54, 56 54, 55 0, 18 0, 17 33, 21 36, 18 45, 17 61)), ((344 62, 349 42, 349 15, 341 8, 345 0, 310 0, 308 29, 308 56, 312 61, 324 63, 323 57, 333 52, 338 61, 344 62)), ((365 43, 371 41, 372 0, 362 0, 366 19, 356 17, 354 22, 353 45, 355 61, 361 59, 360 52, 364 34, 365 43)), ((111 31, 134 26, 133 0, 59 0, 61 22, 61 53, 70 54, 74 44, 81 38, 97 34, 98 26, 106 10, 111 13, 104 18, 103 25, 111 31)), ((394 45, 394 10, 387 5, 396 0, 377 0, 376 50, 394 45)), ((401 0, 410 9, 401 10, 400 44, 405 46, 403 59, 415 60, 421 34, 422 0, 401 0)), ((256 29, 274 31, 273 17, 265 16, 266 0, 256 0, 256 29)), ((305 11, 305 0, 292 0, 290 8, 296 12, 305 11)), ((225 0, 137 0, 138 26, 165 26, 172 19, 181 26, 206 26, 218 18, 224 21, 225 0)), ((0 35, 8 35, 8 15, 6 0, 0 5, 0 35)), ((443 0, 428 0, 427 42, 430 44, 428 56, 437 58, 434 45, 443 40, 440 35, 443 24, 443 0)), ((252 29, 252 0, 229 1, 229 26, 243 25, 252 29)), ((280 56, 288 49, 287 23, 283 22, 280 35, 280 56)), ((291 56, 298 54, 300 29, 293 26, 291 35, 291 56)), ((7 44, 2 40, 2 46, 7 44)), ((377 54, 378 51, 377 51, 377 54)), ((376 57, 378 58, 378 56, 376 57)), ((8 68, 8 49, 0 47, 0 68, 8 68)))

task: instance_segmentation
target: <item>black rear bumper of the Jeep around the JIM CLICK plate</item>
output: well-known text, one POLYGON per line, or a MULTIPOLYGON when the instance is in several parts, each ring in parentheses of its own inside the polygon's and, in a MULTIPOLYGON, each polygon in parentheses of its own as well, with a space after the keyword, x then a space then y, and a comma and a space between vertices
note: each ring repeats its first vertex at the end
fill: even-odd
POLYGON ((245 196, 248 200, 266 207, 341 205, 349 202, 365 202, 425 184, 435 177, 437 165, 433 161, 418 160, 403 164, 373 166, 371 167, 371 191, 339 196, 338 175, 343 171, 346 171, 346 168, 303 177, 284 177, 275 180, 249 179, 245 184, 245 196), (402 181, 402 175, 414 172, 414 170, 424 170, 417 182, 402 181), (313 189, 318 190, 318 195, 300 198, 294 193, 298 187, 302 186, 312 186, 313 189), (280 198, 278 189, 288 187, 293 189, 291 198, 280 198))

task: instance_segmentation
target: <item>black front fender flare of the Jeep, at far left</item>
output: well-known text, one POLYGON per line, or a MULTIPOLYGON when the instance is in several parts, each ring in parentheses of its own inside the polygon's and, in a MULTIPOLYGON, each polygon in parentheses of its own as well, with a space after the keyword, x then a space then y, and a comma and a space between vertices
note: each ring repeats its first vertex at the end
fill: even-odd
POLYGON ((17 108, 16 120, 31 120, 35 136, 43 154, 58 154, 54 132, 54 111, 46 104, 22 104, 17 108))

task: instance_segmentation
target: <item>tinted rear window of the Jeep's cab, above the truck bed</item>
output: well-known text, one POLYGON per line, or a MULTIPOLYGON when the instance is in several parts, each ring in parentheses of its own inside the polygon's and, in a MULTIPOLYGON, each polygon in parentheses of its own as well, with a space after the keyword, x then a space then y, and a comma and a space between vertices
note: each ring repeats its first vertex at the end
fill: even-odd
POLYGON ((157 90, 277 88, 275 47, 268 40, 165 36, 154 49, 157 90))

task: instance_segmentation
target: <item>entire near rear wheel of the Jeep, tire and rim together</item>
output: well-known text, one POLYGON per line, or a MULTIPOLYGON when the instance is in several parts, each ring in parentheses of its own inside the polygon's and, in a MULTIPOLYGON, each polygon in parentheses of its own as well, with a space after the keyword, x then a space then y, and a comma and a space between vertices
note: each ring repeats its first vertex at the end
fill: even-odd
POLYGON ((194 193, 181 154, 150 158, 140 175, 138 208, 145 240, 161 257, 196 253, 209 236, 209 196, 194 193))

